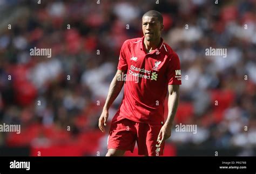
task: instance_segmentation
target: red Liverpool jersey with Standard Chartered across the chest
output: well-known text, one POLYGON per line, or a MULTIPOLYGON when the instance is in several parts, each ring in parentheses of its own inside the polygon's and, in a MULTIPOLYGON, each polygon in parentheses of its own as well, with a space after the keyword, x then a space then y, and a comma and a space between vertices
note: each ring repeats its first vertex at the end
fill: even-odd
POLYGON ((168 85, 181 84, 178 55, 162 38, 150 53, 146 53, 144 37, 129 39, 120 50, 117 69, 126 71, 117 114, 136 122, 162 124, 168 85))

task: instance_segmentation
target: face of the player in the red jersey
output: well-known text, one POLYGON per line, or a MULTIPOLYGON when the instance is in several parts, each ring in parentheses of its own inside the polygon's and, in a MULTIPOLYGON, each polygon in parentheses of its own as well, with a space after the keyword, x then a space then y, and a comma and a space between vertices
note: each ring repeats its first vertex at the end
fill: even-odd
POLYGON ((157 17, 144 16, 142 18, 142 31, 147 41, 155 41, 161 37, 164 26, 157 17))

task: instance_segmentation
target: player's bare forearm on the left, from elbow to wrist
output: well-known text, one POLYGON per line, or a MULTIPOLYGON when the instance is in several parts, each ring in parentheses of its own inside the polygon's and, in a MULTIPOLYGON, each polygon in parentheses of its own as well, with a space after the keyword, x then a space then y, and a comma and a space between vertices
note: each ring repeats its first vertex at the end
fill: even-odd
POLYGON ((117 96, 119 95, 120 91, 123 88, 124 81, 118 81, 117 77, 118 77, 118 74, 116 74, 116 76, 114 76, 114 78, 110 84, 109 92, 107 93, 107 98, 106 98, 106 102, 104 105, 104 108, 106 110, 109 110, 110 106, 112 105, 112 103, 117 98, 117 96))

